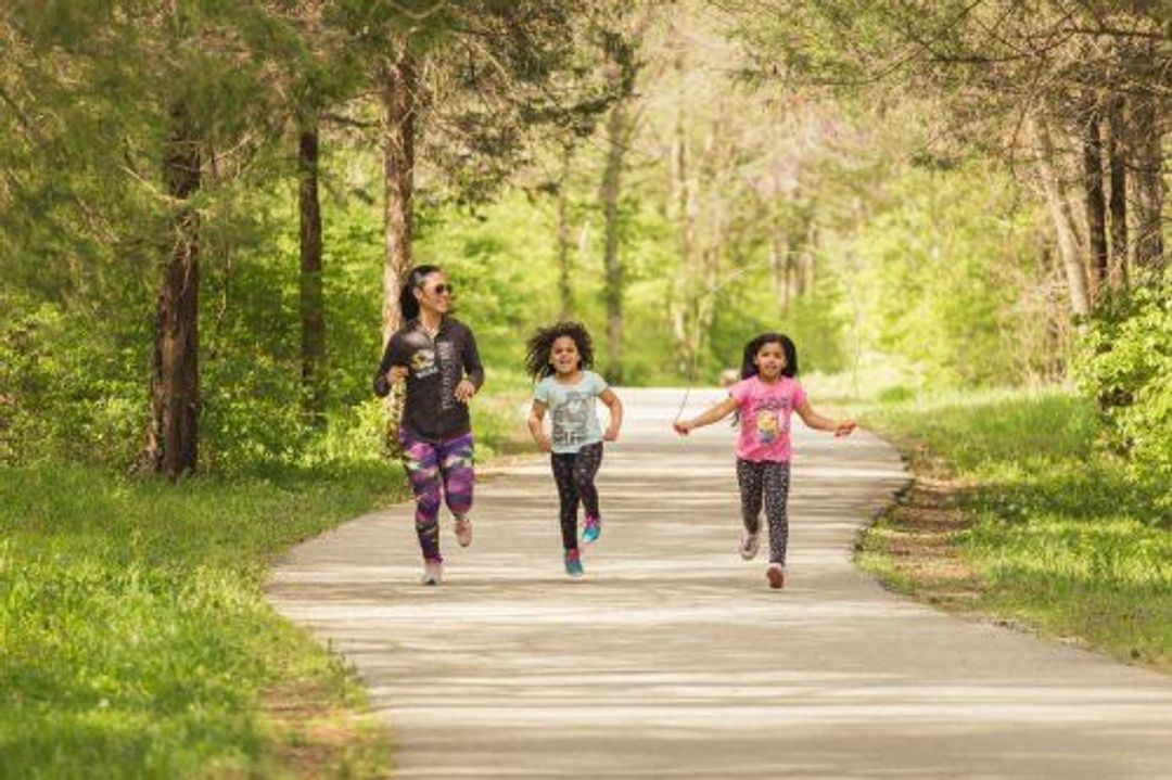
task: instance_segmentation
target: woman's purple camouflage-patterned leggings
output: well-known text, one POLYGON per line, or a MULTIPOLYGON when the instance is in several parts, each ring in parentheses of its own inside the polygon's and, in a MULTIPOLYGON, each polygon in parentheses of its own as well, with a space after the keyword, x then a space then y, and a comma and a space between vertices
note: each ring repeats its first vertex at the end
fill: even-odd
POLYGON ((427 442, 407 429, 398 432, 403 445, 403 466, 415 493, 415 533, 425 561, 442 561, 440 555, 440 492, 452 514, 472 508, 472 435, 427 442))

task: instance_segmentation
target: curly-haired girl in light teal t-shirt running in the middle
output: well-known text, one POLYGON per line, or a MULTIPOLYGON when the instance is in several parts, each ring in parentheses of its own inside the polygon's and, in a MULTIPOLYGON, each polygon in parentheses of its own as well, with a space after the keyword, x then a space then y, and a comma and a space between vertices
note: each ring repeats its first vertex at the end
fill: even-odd
POLYGON ((550 465, 561 505, 566 574, 577 577, 584 573, 578 549, 578 504, 586 508, 582 541, 592 542, 602 529, 594 477, 602 464, 602 442, 619 438, 622 403, 606 379, 590 370, 594 345, 581 324, 558 322, 540 328, 529 340, 527 349, 525 368, 537 382, 529 431, 537 449, 551 453, 550 465), (605 432, 594 412, 595 398, 611 412, 605 432), (551 436, 546 436, 543 425, 546 410, 552 419, 551 436))

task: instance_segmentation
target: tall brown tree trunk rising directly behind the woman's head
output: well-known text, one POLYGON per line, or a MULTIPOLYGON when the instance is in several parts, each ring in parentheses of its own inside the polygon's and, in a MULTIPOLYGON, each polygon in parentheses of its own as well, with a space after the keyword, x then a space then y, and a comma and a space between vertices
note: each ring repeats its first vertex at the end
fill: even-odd
POLYGON ((411 269, 415 193, 415 62, 403 53, 382 74, 386 258, 382 273, 383 344, 402 324, 398 294, 411 269))

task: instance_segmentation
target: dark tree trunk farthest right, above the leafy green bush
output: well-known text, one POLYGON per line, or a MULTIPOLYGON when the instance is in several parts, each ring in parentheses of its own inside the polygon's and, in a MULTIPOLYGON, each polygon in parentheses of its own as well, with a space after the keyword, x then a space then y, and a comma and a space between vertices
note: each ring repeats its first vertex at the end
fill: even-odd
POLYGON ((1131 102, 1132 177, 1136 197, 1136 269, 1157 278, 1164 274, 1164 128, 1157 98, 1138 96, 1131 102))

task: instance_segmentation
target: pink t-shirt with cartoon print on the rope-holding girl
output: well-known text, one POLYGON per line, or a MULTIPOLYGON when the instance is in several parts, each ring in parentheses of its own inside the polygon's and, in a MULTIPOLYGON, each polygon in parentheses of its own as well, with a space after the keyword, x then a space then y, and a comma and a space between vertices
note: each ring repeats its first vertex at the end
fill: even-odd
POLYGON ((737 382, 729 395, 741 408, 738 458, 745 460, 789 460, 790 416, 805 401, 805 390, 788 376, 772 384, 751 376, 737 382))

